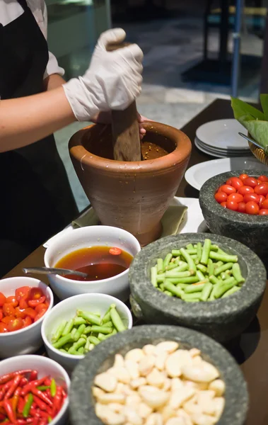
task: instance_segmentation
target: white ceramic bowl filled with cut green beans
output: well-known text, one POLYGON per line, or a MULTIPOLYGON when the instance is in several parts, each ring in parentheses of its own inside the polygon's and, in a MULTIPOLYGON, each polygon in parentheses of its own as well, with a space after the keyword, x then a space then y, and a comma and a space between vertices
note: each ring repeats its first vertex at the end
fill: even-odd
POLYGON ((50 358, 66 370, 117 332, 132 328, 132 314, 111 295, 88 293, 59 302, 42 323, 42 339, 50 358))

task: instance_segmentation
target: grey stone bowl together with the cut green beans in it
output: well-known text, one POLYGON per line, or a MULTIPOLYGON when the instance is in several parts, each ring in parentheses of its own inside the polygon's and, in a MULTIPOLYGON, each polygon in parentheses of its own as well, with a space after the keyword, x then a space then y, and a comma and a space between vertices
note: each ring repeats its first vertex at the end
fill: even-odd
POLYGON ((247 246, 186 233, 149 244, 129 269, 132 309, 146 323, 178 324, 226 342, 260 307, 266 270, 247 246))

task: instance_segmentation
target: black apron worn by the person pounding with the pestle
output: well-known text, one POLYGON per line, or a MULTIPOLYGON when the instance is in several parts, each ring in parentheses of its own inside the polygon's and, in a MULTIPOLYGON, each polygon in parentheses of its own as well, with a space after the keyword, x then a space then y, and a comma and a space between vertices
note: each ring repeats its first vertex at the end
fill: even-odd
MULTIPOLYGON (((7 26, 0 24, 2 100, 44 91, 47 41, 26 1, 18 0, 18 3, 23 14, 7 26)), ((0 185, 0 276, 3 276, 71 222, 77 209, 53 135, 33 145, 1 153, 0 185)))

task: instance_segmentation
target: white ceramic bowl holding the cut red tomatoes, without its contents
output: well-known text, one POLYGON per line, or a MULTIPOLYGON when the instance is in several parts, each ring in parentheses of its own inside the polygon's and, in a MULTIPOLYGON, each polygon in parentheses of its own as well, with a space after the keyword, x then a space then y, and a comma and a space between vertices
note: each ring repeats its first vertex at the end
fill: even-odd
POLYGON ((38 279, 28 277, 6 278, 0 280, 0 292, 6 297, 15 295, 15 290, 21 286, 41 288, 49 301, 45 314, 37 322, 18 331, 0 334, 0 358, 19 356, 21 354, 35 353, 42 346, 41 324, 53 307, 52 290, 38 279))

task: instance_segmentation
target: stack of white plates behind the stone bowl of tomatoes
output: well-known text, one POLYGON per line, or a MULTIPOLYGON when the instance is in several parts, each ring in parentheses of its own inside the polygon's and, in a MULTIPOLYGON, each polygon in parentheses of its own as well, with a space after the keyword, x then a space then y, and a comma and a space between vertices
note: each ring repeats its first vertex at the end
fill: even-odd
POLYGON ((237 120, 210 121, 197 128, 194 145, 211 157, 245 157, 250 148, 238 132, 245 134, 247 130, 237 120))

